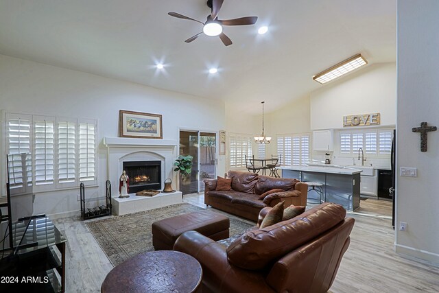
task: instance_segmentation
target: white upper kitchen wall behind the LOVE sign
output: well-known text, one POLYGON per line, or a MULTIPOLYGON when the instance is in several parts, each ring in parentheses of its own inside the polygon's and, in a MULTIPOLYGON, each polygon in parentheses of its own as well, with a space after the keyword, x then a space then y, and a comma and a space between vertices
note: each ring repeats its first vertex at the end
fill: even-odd
POLYGON ((311 129, 342 128, 345 115, 381 113, 381 126, 396 124, 394 63, 368 65, 311 93, 311 129))

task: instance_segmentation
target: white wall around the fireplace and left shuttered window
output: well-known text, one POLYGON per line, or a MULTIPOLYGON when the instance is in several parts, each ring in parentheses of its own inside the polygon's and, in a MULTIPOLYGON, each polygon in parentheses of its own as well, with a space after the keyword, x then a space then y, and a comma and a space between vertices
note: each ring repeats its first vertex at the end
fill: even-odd
MULTIPOLYGON (((117 137, 119 110, 163 115, 163 139, 177 140, 179 128, 216 132, 225 127, 224 102, 2 55, 0 109, 12 113, 98 119, 99 142, 103 137, 117 137)), ((3 156, 4 145, 1 148, 3 156)), ((104 195, 106 164, 106 149, 101 143, 99 189, 86 190, 87 196, 104 195)), ((223 174, 224 169, 222 156, 218 174, 223 174)), ((80 208, 78 193, 78 189, 72 189, 37 194, 34 210, 47 214, 76 211, 80 208)))

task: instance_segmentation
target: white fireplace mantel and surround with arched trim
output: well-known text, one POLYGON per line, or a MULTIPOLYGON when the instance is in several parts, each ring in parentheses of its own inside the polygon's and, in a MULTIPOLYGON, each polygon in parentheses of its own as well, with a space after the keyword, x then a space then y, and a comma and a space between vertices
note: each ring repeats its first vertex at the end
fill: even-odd
POLYGON ((163 181, 171 178, 176 182, 173 163, 177 157, 177 141, 165 139, 132 139, 127 137, 104 137, 107 148, 107 177, 112 186, 112 196, 119 196, 119 177, 123 161, 162 161, 163 181))

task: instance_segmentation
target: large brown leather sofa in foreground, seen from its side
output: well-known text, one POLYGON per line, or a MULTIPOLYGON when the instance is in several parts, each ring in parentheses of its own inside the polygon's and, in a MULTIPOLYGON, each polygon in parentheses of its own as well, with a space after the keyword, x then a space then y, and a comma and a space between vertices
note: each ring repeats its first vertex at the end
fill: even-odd
POLYGON ((188 231, 174 250, 200 261, 203 292, 327 292, 350 243, 354 219, 345 217, 340 204, 325 202, 228 247, 188 231))

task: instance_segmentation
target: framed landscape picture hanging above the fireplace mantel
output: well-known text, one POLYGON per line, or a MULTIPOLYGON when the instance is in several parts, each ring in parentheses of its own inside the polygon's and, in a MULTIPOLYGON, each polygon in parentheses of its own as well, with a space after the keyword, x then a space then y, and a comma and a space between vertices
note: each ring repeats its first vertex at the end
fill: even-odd
POLYGON ((162 139, 162 115, 119 110, 119 135, 162 139))

